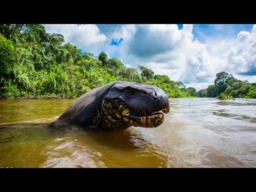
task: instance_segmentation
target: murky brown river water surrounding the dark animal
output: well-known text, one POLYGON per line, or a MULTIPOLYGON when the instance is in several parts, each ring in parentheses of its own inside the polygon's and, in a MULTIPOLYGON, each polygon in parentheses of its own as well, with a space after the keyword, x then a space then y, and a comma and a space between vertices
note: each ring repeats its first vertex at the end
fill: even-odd
POLYGON ((256 99, 170 99, 157 128, 49 128, 72 102, 0 99, 0 167, 256 167, 256 99))

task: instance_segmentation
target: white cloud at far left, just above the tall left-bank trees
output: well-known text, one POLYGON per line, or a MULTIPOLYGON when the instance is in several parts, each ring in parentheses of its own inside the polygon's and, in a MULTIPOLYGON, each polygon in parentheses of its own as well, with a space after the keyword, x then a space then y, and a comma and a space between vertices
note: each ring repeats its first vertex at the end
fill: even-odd
POLYGON ((66 42, 91 52, 103 46, 107 41, 106 35, 102 34, 98 26, 94 24, 46 24, 45 28, 47 32, 64 35, 66 42))

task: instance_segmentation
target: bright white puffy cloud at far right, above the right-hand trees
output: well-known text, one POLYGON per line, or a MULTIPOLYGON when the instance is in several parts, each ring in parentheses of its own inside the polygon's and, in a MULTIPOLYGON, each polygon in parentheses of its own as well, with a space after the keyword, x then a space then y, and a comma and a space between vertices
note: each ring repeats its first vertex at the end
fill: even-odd
MULTIPOLYGON (((251 31, 240 31, 235 39, 207 42, 210 57, 218 70, 233 75, 256 75, 256 26, 251 31)), ((249 77, 242 77, 246 79, 249 77)), ((251 77, 249 78, 251 79, 251 77)))

